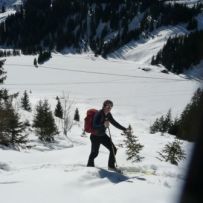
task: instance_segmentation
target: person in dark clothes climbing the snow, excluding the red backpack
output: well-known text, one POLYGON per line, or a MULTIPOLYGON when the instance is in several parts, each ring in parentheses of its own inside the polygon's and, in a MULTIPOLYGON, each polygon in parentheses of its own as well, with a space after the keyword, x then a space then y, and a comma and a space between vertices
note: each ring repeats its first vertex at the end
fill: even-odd
POLYGON ((110 113, 113 107, 113 102, 110 100, 106 100, 103 103, 103 107, 101 110, 96 112, 93 118, 93 129, 95 133, 91 133, 91 153, 89 155, 89 160, 87 163, 88 167, 94 167, 94 159, 97 157, 99 153, 100 144, 104 145, 110 152, 109 161, 108 161, 108 169, 112 171, 119 172, 119 169, 115 166, 115 155, 116 155, 116 147, 113 144, 111 138, 106 134, 106 129, 109 128, 109 123, 111 123, 116 128, 126 131, 127 128, 120 125, 116 122, 110 113))

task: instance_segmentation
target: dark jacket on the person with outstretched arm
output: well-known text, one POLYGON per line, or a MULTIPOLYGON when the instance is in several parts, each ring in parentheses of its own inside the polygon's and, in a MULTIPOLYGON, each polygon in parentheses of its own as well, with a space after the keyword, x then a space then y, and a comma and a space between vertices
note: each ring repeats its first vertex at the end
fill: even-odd
POLYGON ((96 135, 104 135, 106 132, 106 127, 104 126, 104 122, 109 121, 114 127, 120 130, 126 130, 125 127, 120 125, 117 121, 114 120, 111 113, 105 115, 103 110, 99 110, 93 119, 93 129, 96 131, 96 135))

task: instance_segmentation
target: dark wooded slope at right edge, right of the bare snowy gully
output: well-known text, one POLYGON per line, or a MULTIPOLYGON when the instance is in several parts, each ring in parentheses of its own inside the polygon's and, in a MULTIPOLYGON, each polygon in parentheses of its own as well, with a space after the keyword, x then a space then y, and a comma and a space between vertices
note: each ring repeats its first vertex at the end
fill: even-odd
POLYGON ((166 45, 152 59, 152 65, 163 64, 174 73, 198 65, 203 60, 203 31, 168 39, 166 45))

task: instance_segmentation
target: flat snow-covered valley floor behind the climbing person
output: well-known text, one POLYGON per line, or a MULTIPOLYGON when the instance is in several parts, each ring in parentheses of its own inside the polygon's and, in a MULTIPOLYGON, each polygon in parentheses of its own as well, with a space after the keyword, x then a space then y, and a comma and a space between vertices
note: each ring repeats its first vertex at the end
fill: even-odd
MULTIPOLYGON (((140 55, 145 54, 140 52, 140 55)), ((128 116, 133 122, 144 120, 143 124, 149 126, 157 115, 169 108, 174 109, 175 114, 180 113, 197 87, 195 81, 160 73, 161 68, 147 65, 149 71, 143 71, 146 65, 139 61, 53 54, 49 62, 35 68, 34 56, 22 58, 7 58, 5 87, 14 92, 31 90, 31 96, 36 99, 55 99, 65 91, 76 105, 85 104, 87 108, 100 108, 103 100, 109 98, 115 101, 114 111, 122 115, 126 125, 131 122, 128 116)))

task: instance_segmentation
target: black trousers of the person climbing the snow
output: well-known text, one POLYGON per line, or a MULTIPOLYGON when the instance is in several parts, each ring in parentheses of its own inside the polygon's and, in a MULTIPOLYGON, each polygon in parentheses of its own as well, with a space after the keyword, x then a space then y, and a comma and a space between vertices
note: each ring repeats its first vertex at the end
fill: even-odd
POLYGON ((98 156, 100 144, 104 145, 110 152, 108 166, 114 168, 115 167, 115 155, 116 155, 116 147, 114 146, 110 137, 106 134, 103 136, 90 135, 91 140, 91 153, 89 156, 89 160, 87 166, 94 166, 94 159, 98 156))

